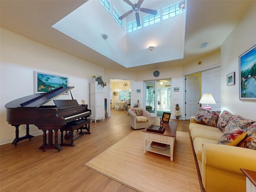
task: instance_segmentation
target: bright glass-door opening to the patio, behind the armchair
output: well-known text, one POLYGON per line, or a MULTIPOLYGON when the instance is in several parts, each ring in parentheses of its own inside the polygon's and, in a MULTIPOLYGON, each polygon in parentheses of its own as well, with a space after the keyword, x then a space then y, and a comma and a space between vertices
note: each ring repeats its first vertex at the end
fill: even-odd
POLYGON ((144 109, 151 116, 162 117, 164 112, 171 111, 171 79, 144 82, 144 109))

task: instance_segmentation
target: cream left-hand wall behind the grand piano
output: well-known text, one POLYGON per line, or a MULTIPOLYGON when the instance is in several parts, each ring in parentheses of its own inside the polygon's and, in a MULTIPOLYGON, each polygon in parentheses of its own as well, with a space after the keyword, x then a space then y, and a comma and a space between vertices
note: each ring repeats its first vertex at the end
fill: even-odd
MULTIPOLYGON (((8 30, 1 28, 0 52, 0 144, 12 142, 14 126, 6 122, 4 105, 12 100, 34 94, 34 71, 68 77, 73 98, 90 104, 89 82, 92 74, 102 75, 104 68, 60 52, 8 30), (90 70, 88 70, 90 69, 90 70)), ((57 99, 71 99, 62 95, 57 99)), ((20 136, 26 134, 25 125, 20 128, 20 136)), ((30 126, 32 135, 42 134, 35 126, 30 126)))

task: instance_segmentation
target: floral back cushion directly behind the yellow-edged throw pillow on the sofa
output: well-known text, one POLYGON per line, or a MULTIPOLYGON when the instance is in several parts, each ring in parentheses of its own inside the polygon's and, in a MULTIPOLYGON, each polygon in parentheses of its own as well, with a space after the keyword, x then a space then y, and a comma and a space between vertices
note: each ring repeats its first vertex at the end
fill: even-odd
POLYGON ((241 129, 246 129, 250 127, 254 122, 254 120, 243 118, 240 115, 233 115, 232 118, 230 118, 228 125, 225 127, 225 130, 229 129, 233 125, 237 125, 241 129))

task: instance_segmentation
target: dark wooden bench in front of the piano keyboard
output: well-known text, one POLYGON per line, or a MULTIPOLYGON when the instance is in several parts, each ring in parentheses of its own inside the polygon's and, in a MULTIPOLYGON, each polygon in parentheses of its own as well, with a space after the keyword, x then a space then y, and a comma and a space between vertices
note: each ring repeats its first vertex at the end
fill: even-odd
POLYGON ((61 137, 60 137, 60 145, 61 146, 75 146, 74 144, 74 140, 80 138, 82 135, 84 134, 91 134, 90 132, 90 122, 91 120, 90 119, 80 119, 80 120, 75 120, 75 121, 72 121, 66 125, 64 125, 62 128, 60 128, 60 132, 61 132, 61 137), (87 126, 88 124, 88 126, 87 126), (80 133, 78 136, 76 136, 74 138, 74 130, 79 130, 80 129, 80 133), (86 129, 88 132, 82 132, 82 129, 86 129), (65 136, 63 136, 63 131, 69 131, 69 133, 65 136), (63 137, 65 137, 65 139, 70 139, 70 142, 68 143, 64 143, 63 142, 63 137))

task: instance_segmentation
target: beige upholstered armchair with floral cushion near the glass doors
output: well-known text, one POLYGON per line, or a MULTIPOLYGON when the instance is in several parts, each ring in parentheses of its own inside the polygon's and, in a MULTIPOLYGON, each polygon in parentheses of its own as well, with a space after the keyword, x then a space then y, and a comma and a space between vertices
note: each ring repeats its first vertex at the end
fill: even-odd
POLYGON ((128 110, 130 114, 130 124, 133 129, 148 127, 151 113, 145 109, 134 107, 128 110))

